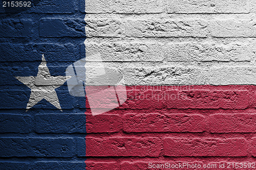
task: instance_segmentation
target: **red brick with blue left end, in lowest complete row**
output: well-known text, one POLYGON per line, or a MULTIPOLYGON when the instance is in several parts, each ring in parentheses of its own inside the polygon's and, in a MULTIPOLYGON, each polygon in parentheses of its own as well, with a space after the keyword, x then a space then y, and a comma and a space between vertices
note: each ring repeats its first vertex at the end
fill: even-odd
MULTIPOLYGON (((82 141, 84 139, 81 139, 82 141)), ((78 145, 82 144, 78 142, 78 145)), ((78 148, 83 148, 79 147, 78 148)), ((84 147, 85 149, 85 147, 84 147)), ((138 156, 157 157, 160 154, 161 142, 158 138, 136 137, 87 137, 86 156, 138 156)), ((78 150, 78 156, 84 156, 84 151, 78 150)))

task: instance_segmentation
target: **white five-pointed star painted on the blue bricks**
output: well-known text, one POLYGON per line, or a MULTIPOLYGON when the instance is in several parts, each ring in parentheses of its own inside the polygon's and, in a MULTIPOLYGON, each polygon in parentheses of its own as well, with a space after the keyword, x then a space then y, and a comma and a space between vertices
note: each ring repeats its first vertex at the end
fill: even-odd
MULTIPOLYGON (((15 77, 17 80, 31 88, 29 102, 27 104, 27 111, 42 99, 47 100, 53 106, 61 110, 59 99, 55 88, 63 85, 66 82, 65 76, 51 76, 49 68, 46 65, 44 54, 42 55, 42 62, 38 66, 37 76, 29 77, 15 77)), ((62 110, 61 110, 62 111, 62 110)))

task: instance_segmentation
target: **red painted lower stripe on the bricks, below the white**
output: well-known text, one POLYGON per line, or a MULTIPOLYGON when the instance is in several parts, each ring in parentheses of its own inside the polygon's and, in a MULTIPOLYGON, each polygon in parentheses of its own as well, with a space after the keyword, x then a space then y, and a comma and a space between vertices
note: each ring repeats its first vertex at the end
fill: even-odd
POLYGON ((124 104, 97 116, 87 102, 87 169, 148 169, 148 162, 166 161, 256 161, 255 86, 126 90, 124 104))

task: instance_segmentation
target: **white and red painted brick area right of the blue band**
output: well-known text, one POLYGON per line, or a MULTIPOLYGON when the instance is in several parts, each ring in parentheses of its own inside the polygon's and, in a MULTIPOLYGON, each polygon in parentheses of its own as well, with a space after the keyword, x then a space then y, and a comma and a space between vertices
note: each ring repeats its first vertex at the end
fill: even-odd
POLYGON ((119 108, 87 110, 87 168, 255 162, 255 5, 86 0, 87 57, 129 85, 119 108))

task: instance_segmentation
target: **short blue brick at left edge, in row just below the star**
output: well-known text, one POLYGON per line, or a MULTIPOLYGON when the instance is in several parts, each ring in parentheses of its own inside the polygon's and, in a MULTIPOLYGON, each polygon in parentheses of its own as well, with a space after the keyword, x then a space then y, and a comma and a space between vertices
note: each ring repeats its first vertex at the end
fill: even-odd
POLYGON ((0 114, 1 133, 28 133, 32 132, 33 128, 34 122, 29 115, 0 114))

